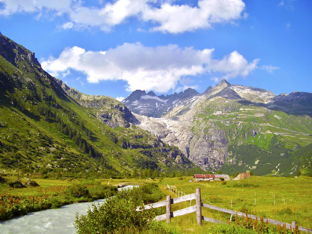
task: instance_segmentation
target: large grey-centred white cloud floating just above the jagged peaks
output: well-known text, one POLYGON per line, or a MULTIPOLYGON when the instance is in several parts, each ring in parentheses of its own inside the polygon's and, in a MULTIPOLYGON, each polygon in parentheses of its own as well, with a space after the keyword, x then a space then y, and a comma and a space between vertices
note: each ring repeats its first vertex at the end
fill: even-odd
POLYGON ((58 58, 41 62, 52 76, 62 77, 69 69, 83 72, 89 83, 124 80, 126 90, 167 92, 187 85, 188 76, 211 75, 220 79, 247 76, 256 69, 258 59, 249 62, 237 51, 222 60, 213 59, 214 49, 195 50, 177 45, 147 47, 124 43, 108 51, 85 51, 78 46, 64 49, 58 58))

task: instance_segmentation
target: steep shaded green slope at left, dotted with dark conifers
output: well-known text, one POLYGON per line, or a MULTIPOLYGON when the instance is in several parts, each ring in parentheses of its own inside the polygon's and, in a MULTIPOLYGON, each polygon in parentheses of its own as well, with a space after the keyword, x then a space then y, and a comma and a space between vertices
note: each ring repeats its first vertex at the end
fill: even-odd
POLYGON ((0 41, 0 171, 49 176, 64 166, 75 177, 192 167, 177 148, 134 125, 105 125, 42 70, 34 53, 5 36, 0 41))

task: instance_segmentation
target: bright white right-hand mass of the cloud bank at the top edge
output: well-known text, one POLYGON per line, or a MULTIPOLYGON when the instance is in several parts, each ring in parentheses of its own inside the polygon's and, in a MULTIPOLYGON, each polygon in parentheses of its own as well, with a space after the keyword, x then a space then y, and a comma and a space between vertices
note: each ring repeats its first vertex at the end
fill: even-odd
POLYGON ((144 21, 157 22, 152 31, 179 33, 199 28, 209 28, 214 23, 231 22, 241 15, 245 3, 241 0, 200 0, 198 7, 164 3, 159 8, 147 7, 142 11, 144 21))

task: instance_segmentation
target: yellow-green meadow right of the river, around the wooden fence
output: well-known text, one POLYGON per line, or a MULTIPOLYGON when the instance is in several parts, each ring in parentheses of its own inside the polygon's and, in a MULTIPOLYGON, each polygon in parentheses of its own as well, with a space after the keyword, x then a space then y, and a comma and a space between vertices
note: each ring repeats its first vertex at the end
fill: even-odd
MULTIPOLYGON (((249 179, 228 182, 189 182, 189 179, 187 177, 183 179, 165 178, 159 183, 159 186, 166 195, 171 195, 172 197, 177 195, 169 191, 167 184, 175 186, 178 191, 183 191, 186 194, 195 193, 195 188, 201 188, 203 203, 287 223, 296 221, 298 226, 312 227, 311 177, 252 176, 249 179)), ((195 203, 195 200, 193 200, 191 205, 195 205, 195 203)), ((190 206, 189 201, 181 202, 172 204, 171 209, 175 211, 188 206, 190 206)), ((226 222, 231 217, 230 214, 210 210, 205 207, 202 207, 202 215, 226 222)), ((165 221, 162 222, 165 224, 165 221)), ((192 213, 172 218, 168 226, 174 228, 179 233, 194 233, 194 231, 196 233, 209 233, 209 228, 214 225, 202 221, 202 226, 197 227, 196 214, 192 213)))

